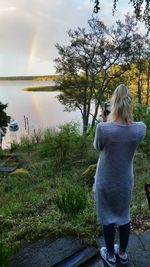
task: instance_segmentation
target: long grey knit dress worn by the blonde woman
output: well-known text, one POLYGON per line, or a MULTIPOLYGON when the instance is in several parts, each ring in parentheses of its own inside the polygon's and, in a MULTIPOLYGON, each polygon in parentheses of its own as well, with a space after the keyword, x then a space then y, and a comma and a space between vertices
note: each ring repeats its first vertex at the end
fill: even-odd
POLYGON ((145 132, 143 122, 98 123, 93 143, 100 151, 94 190, 98 223, 123 225, 130 221, 133 157, 145 132))

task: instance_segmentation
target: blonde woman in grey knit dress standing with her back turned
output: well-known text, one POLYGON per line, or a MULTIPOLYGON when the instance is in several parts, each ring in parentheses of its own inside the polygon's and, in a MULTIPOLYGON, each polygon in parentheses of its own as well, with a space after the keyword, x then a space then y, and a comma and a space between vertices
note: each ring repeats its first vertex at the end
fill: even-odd
POLYGON ((128 262, 126 248, 130 234, 130 202, 133 191, 133 156, 144 138, 146 125, 132 119, 132 97, 121 84, 113 93, 107 122, 96 128, 94 147, 101 151, 95 174, 97 221, 103 225, 106 247, 100 249, 108 266, 128 262), (114 245, 115 225, 119 227, 119 246, 114 245))

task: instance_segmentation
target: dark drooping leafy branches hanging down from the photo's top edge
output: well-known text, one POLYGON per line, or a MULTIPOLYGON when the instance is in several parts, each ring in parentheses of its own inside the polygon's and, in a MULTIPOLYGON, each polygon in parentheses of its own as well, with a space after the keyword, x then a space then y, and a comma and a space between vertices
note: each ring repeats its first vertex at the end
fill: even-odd
MULTIPOLYGON (((116 11, 117 2, 119 0, 113 0, 113 14, 116 11)), ((100 1, 94 0, 94 13, 98 13, 100 10, 100 1)), ((149 0, 130 0, 129 4, 132 4, 133 11, 136 19, 144 22, 148 32, 150 31, 150 1, 149 0)))

